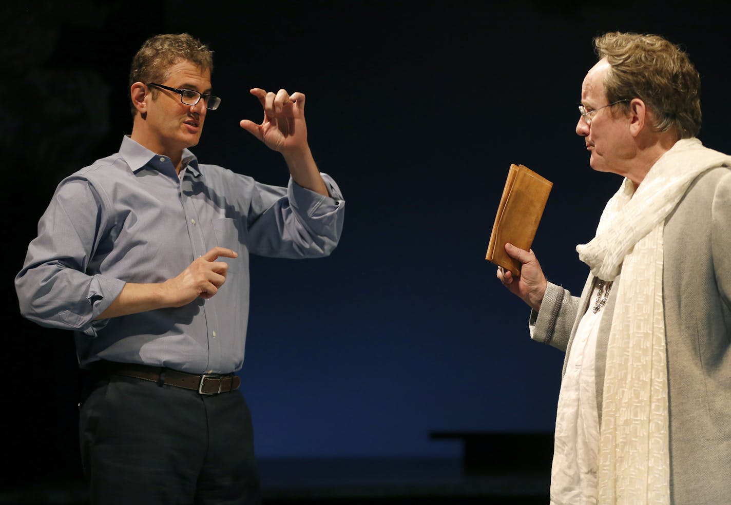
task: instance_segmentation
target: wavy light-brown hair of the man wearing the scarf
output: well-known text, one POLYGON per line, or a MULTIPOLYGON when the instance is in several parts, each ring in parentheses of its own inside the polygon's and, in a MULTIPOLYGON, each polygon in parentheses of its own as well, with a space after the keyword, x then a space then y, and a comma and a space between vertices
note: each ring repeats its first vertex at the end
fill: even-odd
POLYGON ((604 81, 610 103, 640 98, 656 132, 675 130, 679 138, 700 132, 700 75, 681 48, 658 35, 619 31, 596 37, 594 48, 611 66, 604 81))

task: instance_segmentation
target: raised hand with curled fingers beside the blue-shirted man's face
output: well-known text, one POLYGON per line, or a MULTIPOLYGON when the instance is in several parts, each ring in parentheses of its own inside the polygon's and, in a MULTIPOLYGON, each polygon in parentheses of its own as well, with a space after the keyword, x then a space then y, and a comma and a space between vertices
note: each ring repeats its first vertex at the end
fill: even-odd
POLYGON ((264 109, 261 124, 243 119, 241 128, 257 137, 268 148, 280 153, 285 151, 304 151, 307 144, 307 125, 305 123, 305 95, 295 92, 291 96, 287 90, 280 89, 276 94, 262 88, 249 91, 259 99, 264 109))

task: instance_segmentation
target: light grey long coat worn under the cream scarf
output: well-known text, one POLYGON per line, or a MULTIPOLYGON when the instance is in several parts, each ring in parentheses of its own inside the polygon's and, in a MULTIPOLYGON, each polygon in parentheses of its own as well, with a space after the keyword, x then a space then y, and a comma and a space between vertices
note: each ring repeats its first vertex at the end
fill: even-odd
MULTIPOLYGON (((731 497, 730 170, 709 170, 692 183, 664 221, 663 257, 671 503, 725 503, 731 497)), ((587 289, 593 284, 590 277, 587 289)), ((586 289, 579 299, 549 284, 540 312, 531 314, 532 337, 570 349, 588 302, 586 289)), ((596 349, 599 413, 615 303, 613 290, 596 349)))

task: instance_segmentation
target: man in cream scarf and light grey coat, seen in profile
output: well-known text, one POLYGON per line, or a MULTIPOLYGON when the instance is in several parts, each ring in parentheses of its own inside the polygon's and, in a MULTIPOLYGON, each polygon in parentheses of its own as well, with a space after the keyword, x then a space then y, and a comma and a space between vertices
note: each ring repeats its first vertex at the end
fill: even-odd
POLYGON ((566 351, 551 504, 731 503, 731 157, 703 147, 700 77, 654 35, 594 40, 577 134, 624 177, 580 298, 507 244, 534 340, 566 351))

